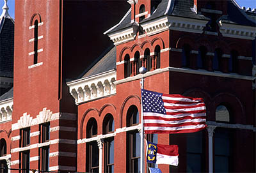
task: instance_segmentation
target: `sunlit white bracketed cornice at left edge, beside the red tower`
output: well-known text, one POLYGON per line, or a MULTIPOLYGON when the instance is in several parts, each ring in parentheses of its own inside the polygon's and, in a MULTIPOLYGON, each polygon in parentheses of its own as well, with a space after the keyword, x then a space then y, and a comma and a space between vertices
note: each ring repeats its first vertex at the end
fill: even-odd
POLYGON ((12 120, 13 98, 0 102, 0 123, 12 120))

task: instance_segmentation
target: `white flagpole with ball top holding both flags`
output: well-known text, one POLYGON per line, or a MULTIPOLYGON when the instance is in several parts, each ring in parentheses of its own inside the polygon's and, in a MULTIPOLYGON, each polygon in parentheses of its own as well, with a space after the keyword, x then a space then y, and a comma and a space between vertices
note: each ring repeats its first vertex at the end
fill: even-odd
MULTIPOLYGON (((144 77, 143 74, 147 72, 147 69, 143 66, 139 69, 139 72, 142 74, 142 78, 140 80, 141 89, 144 89, 144 77)), ((143 128, 143 104, 141 97, 141 138, 140 138, 140 172, 144 173, 144 128, 143 128)))

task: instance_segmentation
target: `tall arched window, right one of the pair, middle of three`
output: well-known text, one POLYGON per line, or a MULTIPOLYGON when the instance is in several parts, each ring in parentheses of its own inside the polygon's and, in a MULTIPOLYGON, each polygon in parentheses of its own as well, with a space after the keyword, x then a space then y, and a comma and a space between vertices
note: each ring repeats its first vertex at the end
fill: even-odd
MULTIPOLYGON (((103 120, 103 133, 115 131, 114 119, 107 114, 103 120)), ((114 137, 104 139, 104 172, 114 172, 114 137)))

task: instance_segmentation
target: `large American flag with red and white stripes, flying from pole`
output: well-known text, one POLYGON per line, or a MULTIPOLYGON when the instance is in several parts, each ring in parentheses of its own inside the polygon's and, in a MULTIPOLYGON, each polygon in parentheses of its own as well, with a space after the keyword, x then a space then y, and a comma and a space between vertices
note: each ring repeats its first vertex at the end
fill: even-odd
POLYGON ((206 127, 202 98, 141 89, 145 133, 191 133, 206 127))

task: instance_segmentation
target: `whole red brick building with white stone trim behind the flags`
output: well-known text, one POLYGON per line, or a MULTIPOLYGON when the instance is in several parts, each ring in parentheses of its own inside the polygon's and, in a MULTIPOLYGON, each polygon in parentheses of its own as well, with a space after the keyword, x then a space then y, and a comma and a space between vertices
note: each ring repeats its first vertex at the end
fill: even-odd
POLYGON ((144 66, 145 89, 202 97, 207 108, 201 132, 147 135, 179 145, 180 154, 178 167, 150 167, 255 172, 255 9, 234 0, 15 6, 13 90, 0 96, 0 116, 11 117, 0 124, 1 165, 138 172, 144 66))

